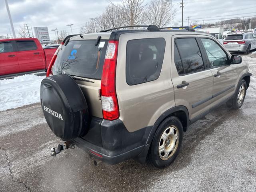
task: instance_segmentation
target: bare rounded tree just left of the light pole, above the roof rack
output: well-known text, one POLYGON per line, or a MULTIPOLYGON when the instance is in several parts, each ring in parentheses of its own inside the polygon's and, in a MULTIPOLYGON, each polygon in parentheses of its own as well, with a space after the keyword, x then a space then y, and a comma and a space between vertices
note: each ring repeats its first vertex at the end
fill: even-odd
MULTIPOLYGON (((172 18, 176 15, 177 9, 172 8, 172 18)), ((158 27, 166 26, 171 20, 171 6, 164 0, 153 0, 146 6, 144 16, 147 24, 158 27)))

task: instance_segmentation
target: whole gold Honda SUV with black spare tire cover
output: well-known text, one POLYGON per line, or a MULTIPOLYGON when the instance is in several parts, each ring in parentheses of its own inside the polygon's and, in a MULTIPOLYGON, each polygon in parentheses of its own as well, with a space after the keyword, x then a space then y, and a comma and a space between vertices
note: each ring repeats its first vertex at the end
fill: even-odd
POLYGON ((42 110, 56 136, 96 160, 163 168, 190 124, 224 102, 242 106, 251 73, 210 34, 125 28, 65 38, 41 84, 42 110))

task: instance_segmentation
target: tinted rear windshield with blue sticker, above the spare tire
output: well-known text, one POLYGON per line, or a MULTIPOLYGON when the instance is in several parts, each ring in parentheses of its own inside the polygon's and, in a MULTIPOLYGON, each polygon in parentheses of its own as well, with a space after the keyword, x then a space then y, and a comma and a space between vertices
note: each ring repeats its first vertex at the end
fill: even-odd
POLYGON ((52 72, 69 74, 90 79, 101 79, 108 40, 101 40, 95 46, 96 40, 74 40, 63 46, 52 72))

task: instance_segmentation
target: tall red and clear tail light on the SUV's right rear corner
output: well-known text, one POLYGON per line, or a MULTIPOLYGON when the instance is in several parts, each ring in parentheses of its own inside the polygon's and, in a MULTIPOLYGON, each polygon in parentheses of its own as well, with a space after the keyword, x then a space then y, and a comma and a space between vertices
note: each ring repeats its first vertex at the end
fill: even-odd
POLYGON ((119 118, 119 108, 116 96, 116 60, 118 41, 110 40, 106 51, 101 78, 102 114, 106 120, 119 118))

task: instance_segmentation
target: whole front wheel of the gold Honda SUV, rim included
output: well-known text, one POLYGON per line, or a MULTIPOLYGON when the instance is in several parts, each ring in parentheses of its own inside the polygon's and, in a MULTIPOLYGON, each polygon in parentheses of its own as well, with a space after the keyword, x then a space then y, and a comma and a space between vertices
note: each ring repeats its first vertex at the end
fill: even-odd
POLYGON ((234 97, 226 103, 227 106, 233 109, 239 109, 244 103, 246 89, 247 89, 246 81, 243 79, 238 84, 238 88, 236 89, 234 97))

